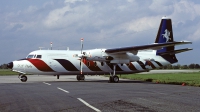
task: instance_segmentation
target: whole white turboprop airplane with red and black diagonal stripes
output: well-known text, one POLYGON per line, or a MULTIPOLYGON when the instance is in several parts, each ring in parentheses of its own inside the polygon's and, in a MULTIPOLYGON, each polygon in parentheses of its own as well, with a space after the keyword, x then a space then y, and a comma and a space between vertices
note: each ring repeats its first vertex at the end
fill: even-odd
POLYGON ((175 50, 175 45, 191 43, 174 41, 171 19, 163 17, 155 43, 150 45, 91 50, 81 48, 81 51, 37 50, 25 59, 8 63, 7 67, 18 72, 22 82, 27 81, 25 74, 57 75, 58 79, 59 75, 77 75, 77 80, 84 80, 84 75, 110 74, 109 82, 118 82, 116 74, 146 72, 178 62, 175 54, 192 49, 175 50))

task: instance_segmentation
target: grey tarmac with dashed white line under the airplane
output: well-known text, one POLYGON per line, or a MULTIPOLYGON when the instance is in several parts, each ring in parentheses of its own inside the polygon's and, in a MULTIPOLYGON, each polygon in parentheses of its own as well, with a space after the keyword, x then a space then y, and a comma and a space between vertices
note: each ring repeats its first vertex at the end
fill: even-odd
POLYGON ((71 75, 28 75, 27 82, 0 76, 0 112, 199 112, 199 96, 199 87, 126 79, 108 83, 104 76, 77 81, 71 75))

